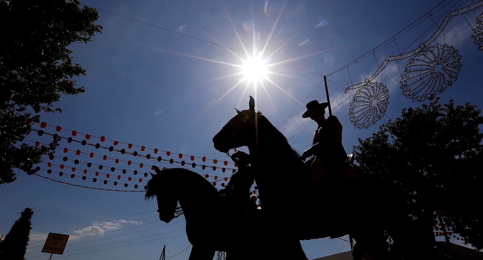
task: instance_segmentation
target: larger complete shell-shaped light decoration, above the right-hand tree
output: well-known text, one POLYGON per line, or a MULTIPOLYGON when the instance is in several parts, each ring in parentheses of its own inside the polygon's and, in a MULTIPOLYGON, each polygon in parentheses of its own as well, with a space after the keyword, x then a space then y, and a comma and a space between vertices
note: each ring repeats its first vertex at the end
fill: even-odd
POLYGON ((430 95, 442 93, 458 79, 460 60, 458 50, 446 43, 423 48, 401 75, 402 94, 423 102, 430 95))

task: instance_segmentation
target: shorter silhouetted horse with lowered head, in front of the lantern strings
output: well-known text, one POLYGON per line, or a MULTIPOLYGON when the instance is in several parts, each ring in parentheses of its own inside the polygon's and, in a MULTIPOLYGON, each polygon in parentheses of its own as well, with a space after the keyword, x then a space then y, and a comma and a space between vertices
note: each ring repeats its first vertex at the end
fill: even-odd
MULTIPOLYGON (((159 219, 166 223, 174 219, 179 202, 186 219, 186 235, 193 245, 190 260, 212 260, 215 251, 227 252, 230 260, 268 258, 280 251, 280 245, 262 240, 263 235, 254 237, 254 231, 263 234, 263 228, 248 227, 237 221, 238 216, 230 215, 232 211, 224 209, 229 202, 198 173, 185 168, 159 170, 154 167, 157 174, 152 174, 153 178, 148 181, 145 198, 156 196, 159 219)), ((291 259, 306 259, 299 242, 283 250, 291 259)))

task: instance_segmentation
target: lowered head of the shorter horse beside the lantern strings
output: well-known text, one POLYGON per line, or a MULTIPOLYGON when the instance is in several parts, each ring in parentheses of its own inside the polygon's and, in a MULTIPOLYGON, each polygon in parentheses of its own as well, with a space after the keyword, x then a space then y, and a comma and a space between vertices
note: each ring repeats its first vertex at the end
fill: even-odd
POLYGON ((144 197, 151 199, 156 196, 157 207, 159 212, 159 219, 166 223, 169 223, 174 219, 174 210, 178 205, 177 192, 170 185, 170 181, 167 179, 167 175, 163 174, 156 165, 153 165, 156 174, 152 174, 153 178, 148 181, 148 189, 144 197))

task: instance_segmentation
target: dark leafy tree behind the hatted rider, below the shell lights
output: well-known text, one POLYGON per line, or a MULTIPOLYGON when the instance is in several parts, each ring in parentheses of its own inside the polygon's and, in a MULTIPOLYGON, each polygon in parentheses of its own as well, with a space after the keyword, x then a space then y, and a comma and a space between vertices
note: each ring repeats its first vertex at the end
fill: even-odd
MULTIPOLYGON (((483 248, 480 210, 483 123, 481 110, 431 97, 421 108, 402 109, 395 121, 354 147, 357 163, 404 201, 401 208, 425 225, 435 212, 465 243, 483 248)), ((427 226, 427 225, 426 225, 427 226)))

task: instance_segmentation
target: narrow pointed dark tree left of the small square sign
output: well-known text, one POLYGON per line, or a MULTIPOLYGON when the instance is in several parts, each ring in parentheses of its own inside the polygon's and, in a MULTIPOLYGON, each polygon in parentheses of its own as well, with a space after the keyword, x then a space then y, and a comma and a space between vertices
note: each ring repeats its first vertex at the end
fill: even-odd
POLYGON ((27 251, 32 229, 33 211, 25 208, 20 213, 20 218, 15 220, 14 225, 0 243, 0 259, 22 260, 27 251))

